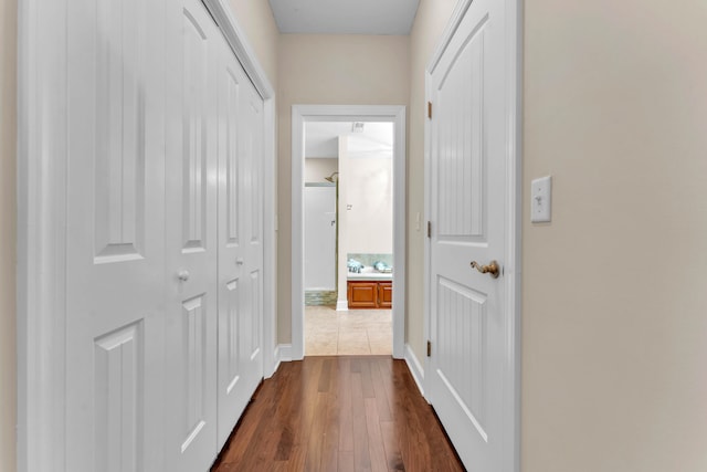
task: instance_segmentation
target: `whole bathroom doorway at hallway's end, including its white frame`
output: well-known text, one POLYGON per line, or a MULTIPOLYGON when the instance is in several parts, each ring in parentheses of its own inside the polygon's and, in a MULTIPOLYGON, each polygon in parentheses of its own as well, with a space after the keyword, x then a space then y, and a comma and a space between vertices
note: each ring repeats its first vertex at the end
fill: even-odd
POLYGON ((294 359, 404 355, 404 107, 293 107, 294 359))

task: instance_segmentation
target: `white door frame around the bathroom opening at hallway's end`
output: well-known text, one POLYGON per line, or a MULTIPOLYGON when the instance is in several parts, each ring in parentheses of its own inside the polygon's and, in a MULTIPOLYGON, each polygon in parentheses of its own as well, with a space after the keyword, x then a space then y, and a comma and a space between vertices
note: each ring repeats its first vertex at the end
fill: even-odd
POLYGON ((292 106, 292 358, 305 354, 304 165, 305 124, 310 122, 393 123, 393 357, 405 344, 405 107, 400 105, 292 106))

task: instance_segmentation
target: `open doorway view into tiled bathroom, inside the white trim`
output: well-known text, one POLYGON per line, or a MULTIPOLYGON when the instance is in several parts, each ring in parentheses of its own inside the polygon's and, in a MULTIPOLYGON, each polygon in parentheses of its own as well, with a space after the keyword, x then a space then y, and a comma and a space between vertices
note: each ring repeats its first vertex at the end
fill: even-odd
POLYGON ((305 355, 392 355, 393 124, 305 124, 305 355))

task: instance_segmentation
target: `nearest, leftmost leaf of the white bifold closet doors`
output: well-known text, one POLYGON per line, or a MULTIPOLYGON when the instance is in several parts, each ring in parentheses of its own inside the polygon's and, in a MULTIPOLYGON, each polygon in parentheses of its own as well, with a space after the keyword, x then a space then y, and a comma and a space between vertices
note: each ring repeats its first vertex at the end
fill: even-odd
POLYGON ((162 470, 165 2, 66 6, 66 371, 38 387, 66 397, 57 470, 162 470))

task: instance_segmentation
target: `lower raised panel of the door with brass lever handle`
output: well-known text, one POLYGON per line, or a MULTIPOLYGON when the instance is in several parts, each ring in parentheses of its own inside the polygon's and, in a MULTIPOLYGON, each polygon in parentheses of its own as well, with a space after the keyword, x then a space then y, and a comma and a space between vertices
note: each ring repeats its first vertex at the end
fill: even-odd
POLYGON ((485 441, 486 300, 473 289, 439 280, 437 374, 485 441))

